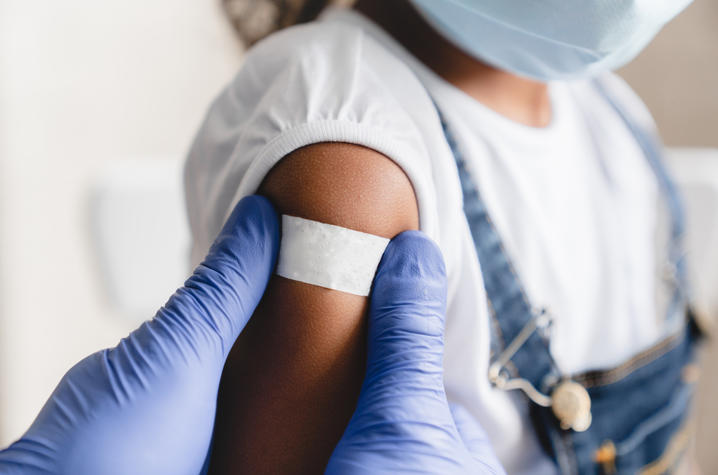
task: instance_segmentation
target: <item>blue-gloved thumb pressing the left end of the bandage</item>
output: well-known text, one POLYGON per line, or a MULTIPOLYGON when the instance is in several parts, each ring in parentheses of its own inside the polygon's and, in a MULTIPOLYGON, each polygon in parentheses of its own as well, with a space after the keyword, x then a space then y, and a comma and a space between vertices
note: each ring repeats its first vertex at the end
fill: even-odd
POLYGON ((207 257, 150 323, 195 353, 211 345, 226 357, 264 294, 278 248, 272 205, 261 196, 242 199, 207 257))

